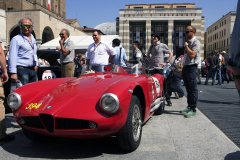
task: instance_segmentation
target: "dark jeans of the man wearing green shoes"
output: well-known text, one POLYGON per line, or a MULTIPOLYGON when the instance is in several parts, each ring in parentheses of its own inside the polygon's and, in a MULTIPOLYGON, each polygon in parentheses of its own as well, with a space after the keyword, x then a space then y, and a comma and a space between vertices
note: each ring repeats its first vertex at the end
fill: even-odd
POLYGON ((187 90, 187 103, 188 107, 196 112, 198 101, 198 89, 197 89, 197 65, 186 65, 182 70, 182 77, 187 90))

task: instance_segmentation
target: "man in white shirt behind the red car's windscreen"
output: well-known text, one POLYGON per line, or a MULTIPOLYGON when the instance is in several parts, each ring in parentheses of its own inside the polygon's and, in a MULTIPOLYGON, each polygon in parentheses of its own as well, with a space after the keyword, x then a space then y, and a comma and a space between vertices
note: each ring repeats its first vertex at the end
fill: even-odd
POLYGON ((104 66, 115 57, 116 51, 110 44, 101 41, 98 30, 93 32, 93 40, 94 43, 88 47, 86 64, 91 65, 91 69, 95 72, 104 72, 104 66))

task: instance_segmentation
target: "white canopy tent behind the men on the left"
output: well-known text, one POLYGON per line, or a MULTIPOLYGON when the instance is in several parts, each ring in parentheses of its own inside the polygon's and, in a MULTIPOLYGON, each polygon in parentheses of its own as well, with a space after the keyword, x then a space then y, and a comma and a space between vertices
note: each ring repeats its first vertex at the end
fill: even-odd
MULTIPOLYGON (((93 38, 92 36, 70 36, 69 37, 74 45, 75 45, 75 49, 88 49, 88 46, 93 43, 93 38)), ((110 45, 112 44, 112 40, 115 38, 119 38, 118 35, 101 35, 101 40, 104 42, 109 43, 110 45)), ((51 49, 54 50, 56 49, 57 46, 59 45, 59 38, 53 39, 47 43, 44 43, 40 46, 40 50, 46 50, 46 49, 51 49)))

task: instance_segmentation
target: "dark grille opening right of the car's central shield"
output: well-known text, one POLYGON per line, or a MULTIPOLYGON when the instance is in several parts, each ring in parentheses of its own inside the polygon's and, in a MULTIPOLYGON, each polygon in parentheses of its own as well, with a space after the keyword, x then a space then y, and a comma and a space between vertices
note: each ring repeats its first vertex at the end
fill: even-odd
POLYGON ((57 129, 90 129, 89 121, 68 118, 56 118, 57 129))

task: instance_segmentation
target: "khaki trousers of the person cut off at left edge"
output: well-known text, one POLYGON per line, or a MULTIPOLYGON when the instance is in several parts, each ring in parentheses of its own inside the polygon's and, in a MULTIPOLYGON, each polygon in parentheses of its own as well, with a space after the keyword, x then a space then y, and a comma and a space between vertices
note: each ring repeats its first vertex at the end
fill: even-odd
POLYGON ((2 81, 0 79, 0 139, 6 136, 6 126, 4 124, 5 120, 5 107, 3 105, 4 102, 4 90, 2 81))

